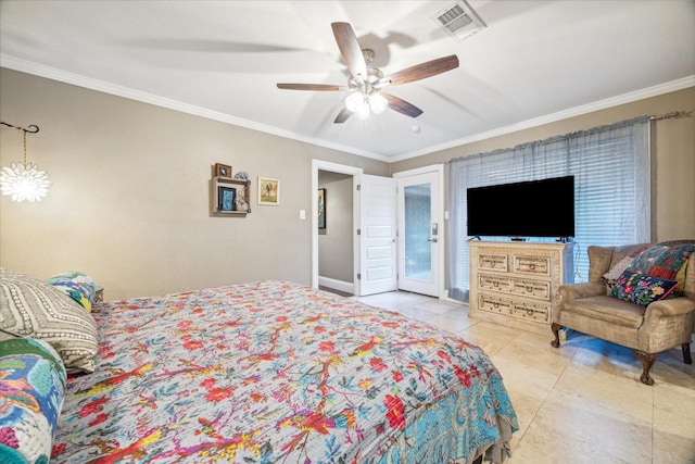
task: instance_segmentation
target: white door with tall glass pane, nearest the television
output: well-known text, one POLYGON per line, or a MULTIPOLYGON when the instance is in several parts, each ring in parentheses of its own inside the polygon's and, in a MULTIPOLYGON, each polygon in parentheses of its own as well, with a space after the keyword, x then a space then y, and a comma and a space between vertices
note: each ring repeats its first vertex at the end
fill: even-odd
POLYGON ((440 189, 437 172, 397 178, 399 288, 439 297, 440 189))

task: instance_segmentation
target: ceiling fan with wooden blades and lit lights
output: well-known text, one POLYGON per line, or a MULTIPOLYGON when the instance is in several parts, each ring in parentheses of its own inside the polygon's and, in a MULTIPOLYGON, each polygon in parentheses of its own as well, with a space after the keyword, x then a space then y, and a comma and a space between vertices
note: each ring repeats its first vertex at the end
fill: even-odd
POLYGON ((382 92, 388 86, 397 86, 426 77, 435 76, 458 67, 458 58, 455 54, 438 58, 425 63, 416 64, 405 70, 384 76, 380 70, 370 67, 374 51, 363 50, 357 41, 357 36, 349 23, 331 23, 333 36, 352 78, 348 86, 330 84, 278 84, 279 89, 287 90, 319 90, 319 91, 350 91, 345 99, 345 108, 336 117, 333 123, 340 124, 348 121, 351 115, 361 120, 369 117, 370 112, 382 113, 387 108, 397 111, 406 116, 417 117, 422 110, 407 101, 382 92))

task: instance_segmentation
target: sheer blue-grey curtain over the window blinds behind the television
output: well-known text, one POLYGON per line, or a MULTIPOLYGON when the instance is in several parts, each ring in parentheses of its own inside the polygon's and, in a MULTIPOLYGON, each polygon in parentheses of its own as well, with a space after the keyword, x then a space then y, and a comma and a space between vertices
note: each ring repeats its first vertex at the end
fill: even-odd
MULTIPOLYGON (((574 281, 586 281, 586 247, 650 240, 648 116, 451 160, 447 240, 450 298, 468 301, 466 190, 569 175, 574 176, 574 281)), ((552 199, 548 199, 546 208, 552 216, 552 199)), ((555 240, 541 237, 530 239, 555 240)))

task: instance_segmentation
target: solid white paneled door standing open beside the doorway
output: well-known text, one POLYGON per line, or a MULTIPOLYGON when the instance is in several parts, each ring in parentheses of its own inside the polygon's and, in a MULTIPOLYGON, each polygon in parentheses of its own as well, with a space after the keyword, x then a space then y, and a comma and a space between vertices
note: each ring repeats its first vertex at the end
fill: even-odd
POLYGON ((359 192, 359 296, 396 290, 395 179, 363 174, 359 192))

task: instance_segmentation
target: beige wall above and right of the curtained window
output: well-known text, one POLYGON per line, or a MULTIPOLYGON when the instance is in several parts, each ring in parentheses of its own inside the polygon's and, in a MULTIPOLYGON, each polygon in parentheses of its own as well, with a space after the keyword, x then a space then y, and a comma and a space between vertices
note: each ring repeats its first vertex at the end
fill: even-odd
MULTIPOLYGON (((695 87, 391 164, 391 173, 485 153, 643 115, 695 110, 695 87)), ((694 112, 695 113, 695 112, 694 112)), ((652 152, 652 239, 695 238, 695 115, 657 121, 652 152)))

